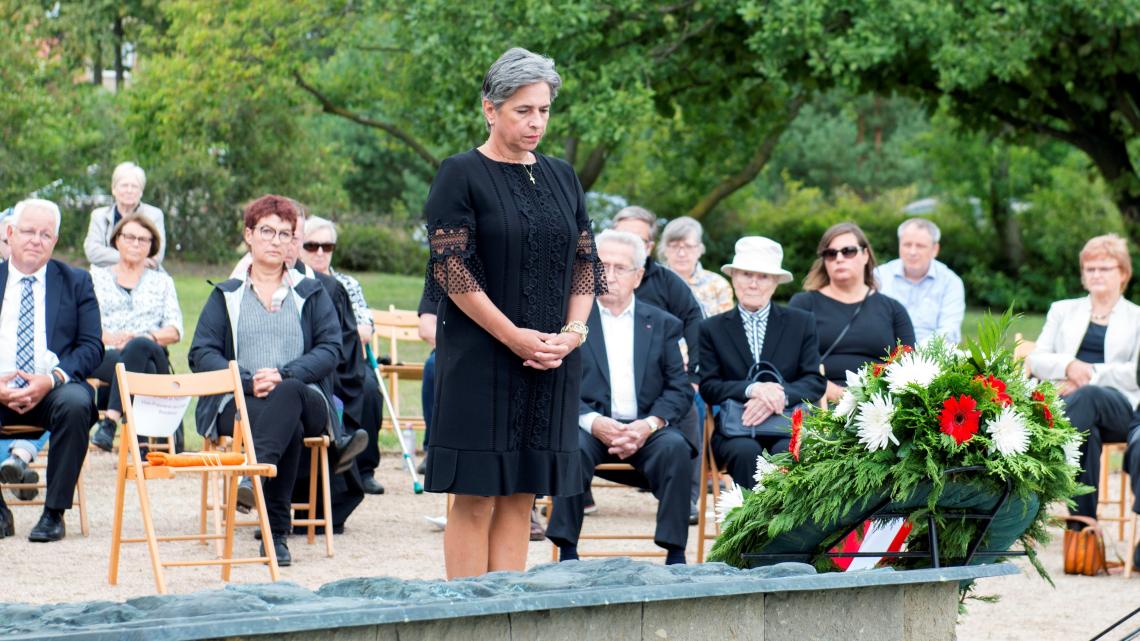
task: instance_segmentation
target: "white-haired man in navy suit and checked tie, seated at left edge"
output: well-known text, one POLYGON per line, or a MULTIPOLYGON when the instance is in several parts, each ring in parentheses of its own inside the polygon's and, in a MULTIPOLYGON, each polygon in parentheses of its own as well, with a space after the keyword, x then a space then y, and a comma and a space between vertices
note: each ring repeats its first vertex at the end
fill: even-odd
MULTIPOLYGON (((72 505, 96 420, 87 378, 103 360, 91 276, 51 258, 58 235, 55 203, 23 201, 7 230, 11 258, 0 263, 0 344, 11 346, 0 349, 0 424, 51 432, 48 493, 27 536, 33 542, 64 537, 63 514, 72 505)), ((0 497, 0 537, 13 535, 11 511, 0 497)))

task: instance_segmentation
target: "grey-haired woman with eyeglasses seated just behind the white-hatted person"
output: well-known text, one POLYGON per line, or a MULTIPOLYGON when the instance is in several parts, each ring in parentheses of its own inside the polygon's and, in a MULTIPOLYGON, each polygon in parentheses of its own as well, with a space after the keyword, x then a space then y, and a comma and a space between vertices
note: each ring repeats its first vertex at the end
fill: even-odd
POLYGON ((732 285, 719 274, 701 267, 705 255, 705 229, 695 218, 674 218, 661 232, 658 250, 660 259, 677 276, 681 276, 693 298, 701 303, 705 317, 716 316, 733 308, 732 285))

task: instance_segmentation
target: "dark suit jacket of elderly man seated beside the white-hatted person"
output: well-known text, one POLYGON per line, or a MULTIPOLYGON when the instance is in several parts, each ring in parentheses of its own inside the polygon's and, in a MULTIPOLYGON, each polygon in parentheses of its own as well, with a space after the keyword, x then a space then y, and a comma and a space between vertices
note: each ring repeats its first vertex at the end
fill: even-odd
MULTIPOLYGON (((586 324, 591 339, 581 350, 581 404, 578 415, 597 412, 610 416, 610 360, 605 354, 602 317, 596 305, 592 306, 586 324)), ((685 375, 677 344, 681 327, 681 320, 670 314, 641 300, 634 303, 637 417, 659 416, 674 429, 693 406, 693 388, 685 375)), ((690 445, 697 447, 694 443, 690 445)))

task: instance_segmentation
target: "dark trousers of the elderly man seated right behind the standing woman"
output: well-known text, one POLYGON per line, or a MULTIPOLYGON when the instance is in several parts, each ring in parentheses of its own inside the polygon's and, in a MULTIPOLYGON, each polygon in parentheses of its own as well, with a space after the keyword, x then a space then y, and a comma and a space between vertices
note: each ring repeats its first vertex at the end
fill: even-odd
POLYGON ((578 430, 581 452, 583 494, 555 496, 554 512, 546 527, 546 537, 555 545, 577 545, 581 533, 585 492, 598 463, 629 463, 636 472, 598 472, 614 482, 645 487, 657 497, 657 530, 653 542, 666 549, 684 550, 689 542, 690 464, 697 453, 685 437, 673 428, 650 435, 636 454, 622 461, 606 452, 598 439, 578 430))

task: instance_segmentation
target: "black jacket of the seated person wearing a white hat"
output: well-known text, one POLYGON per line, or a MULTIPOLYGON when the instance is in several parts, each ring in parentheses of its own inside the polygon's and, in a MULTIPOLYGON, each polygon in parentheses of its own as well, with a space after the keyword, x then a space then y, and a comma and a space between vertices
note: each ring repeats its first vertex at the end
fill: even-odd
MULTIPOLYGON (((789 407, 805 400, 815 403, 826 389, 826 381, 820 375, 815 317, 808 311, 772 305, 760 360, 773 364, 784 378, 789 407)), ((739 307, 701 323, 701 398, 706 403, 746 400, 752 363, 739 307)))

